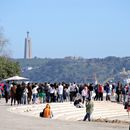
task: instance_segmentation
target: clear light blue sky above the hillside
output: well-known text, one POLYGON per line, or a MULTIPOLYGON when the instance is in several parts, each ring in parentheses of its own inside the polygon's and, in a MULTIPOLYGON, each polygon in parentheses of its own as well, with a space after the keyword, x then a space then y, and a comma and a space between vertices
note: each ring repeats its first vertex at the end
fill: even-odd
POLYGON ((130 56, 130 0, 0 0, 0 26, 12 57, 130 56))

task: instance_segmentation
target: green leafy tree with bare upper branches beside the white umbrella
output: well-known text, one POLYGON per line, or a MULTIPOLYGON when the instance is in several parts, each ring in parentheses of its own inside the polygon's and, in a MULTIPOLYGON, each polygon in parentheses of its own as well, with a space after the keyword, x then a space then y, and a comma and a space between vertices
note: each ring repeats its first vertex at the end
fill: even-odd
POLYGON ((6 53, 8 40, 4 37, 3 29, 0 28, 0 80, 20 74, 20 65, 9 58, 6 53))

